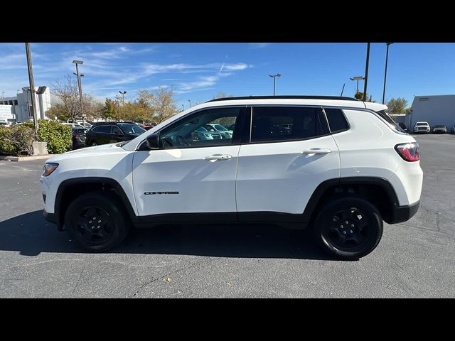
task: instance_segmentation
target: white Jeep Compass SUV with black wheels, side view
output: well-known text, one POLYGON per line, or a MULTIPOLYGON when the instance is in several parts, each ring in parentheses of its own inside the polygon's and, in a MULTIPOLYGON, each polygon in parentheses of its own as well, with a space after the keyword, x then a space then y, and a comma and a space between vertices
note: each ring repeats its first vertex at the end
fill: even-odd
POLYGON ((346 97, 215 99, 132 141, 49 158, 44 215, 89 251, 117 246, 130 227, 276 222, 358 259, 383 220, 419 208, 419 145, 386 109, 346 97), (234 126, 232 137, 197 139, 206 124, 234 126))

